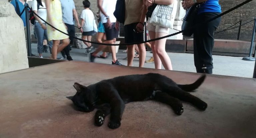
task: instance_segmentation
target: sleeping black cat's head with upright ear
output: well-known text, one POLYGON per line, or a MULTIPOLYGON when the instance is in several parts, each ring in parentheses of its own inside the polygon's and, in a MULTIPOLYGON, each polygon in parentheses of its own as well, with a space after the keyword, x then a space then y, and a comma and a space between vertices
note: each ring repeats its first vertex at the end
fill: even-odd
POLYGON ((75 83, 73 86, 77 92, 74 96, 69 96, 67 98, 73 101, 75 109, 81 112, 93 111, 95 95, 92 93, 92 91, 88 87, 79 83, 75 83))

